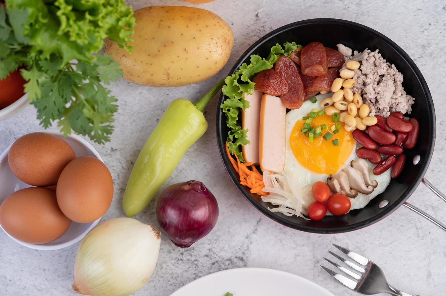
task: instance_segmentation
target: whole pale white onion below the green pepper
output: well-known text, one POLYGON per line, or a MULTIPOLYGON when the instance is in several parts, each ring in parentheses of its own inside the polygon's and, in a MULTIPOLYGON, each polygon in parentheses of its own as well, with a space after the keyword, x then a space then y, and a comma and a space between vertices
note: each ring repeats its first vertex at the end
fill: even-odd
POLYGON ((136 219, 100 223, 79 246, 73 290, 91 296, 133 294, 152 276, 160 243, 160 233, 136 219))

